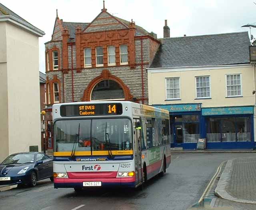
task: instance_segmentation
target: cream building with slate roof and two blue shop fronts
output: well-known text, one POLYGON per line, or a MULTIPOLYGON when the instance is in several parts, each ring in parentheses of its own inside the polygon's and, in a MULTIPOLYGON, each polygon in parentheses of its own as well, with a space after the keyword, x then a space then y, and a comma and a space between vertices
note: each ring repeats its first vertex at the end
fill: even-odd
POLYGON ((255 68, 247 32, 164 38, 148 68, 149 104, 169 110, 172 146, 255 147, 255 68))

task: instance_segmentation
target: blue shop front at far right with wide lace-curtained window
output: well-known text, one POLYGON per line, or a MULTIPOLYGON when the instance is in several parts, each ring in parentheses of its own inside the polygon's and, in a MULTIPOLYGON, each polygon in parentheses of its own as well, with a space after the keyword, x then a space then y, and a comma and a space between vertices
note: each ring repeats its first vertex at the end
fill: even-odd
POLYGON ((253 109, 253 106, 202 108, 207 148, 254 148, 253 109))

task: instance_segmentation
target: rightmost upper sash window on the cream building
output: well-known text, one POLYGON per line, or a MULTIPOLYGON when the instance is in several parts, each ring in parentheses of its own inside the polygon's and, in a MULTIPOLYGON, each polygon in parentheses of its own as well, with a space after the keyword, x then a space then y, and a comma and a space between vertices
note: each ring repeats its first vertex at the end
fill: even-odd
POLYGON ((242 96, 241 74, 226 75, 227 97, 242 96))

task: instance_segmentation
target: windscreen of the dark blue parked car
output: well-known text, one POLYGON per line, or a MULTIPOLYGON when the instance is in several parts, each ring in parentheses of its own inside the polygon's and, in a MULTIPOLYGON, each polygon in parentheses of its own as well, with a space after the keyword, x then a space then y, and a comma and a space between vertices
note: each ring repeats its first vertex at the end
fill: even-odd
POLYGON ((4 165, 24 163, 34 163, 34 154, 12 154, 2 162, 4 165))

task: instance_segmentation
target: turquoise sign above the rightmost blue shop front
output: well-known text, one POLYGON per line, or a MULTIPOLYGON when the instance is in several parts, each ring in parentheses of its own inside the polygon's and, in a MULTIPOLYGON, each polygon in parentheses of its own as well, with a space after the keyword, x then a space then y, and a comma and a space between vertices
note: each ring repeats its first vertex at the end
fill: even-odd
POLYGON ((202 108, 202 115, 230 115, 230 114, 253 114, 252 106, 225 107, 225 108, 202 108))

